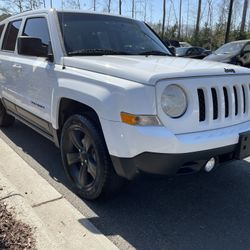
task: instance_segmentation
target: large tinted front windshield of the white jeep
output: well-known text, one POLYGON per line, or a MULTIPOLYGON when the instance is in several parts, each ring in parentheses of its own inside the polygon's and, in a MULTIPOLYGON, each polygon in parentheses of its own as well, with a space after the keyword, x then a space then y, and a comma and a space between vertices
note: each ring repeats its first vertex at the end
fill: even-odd
POLYGON ((77 55, 171 55, 142 22, 90 13, 59 12, 66 52, 77 55))

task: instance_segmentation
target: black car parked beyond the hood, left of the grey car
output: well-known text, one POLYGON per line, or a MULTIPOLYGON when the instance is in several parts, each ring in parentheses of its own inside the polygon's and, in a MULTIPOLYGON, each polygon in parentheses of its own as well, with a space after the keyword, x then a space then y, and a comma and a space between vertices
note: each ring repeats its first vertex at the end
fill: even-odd
POLYGON ((200 47, 180 47, 176 48, 176 56, 188 57, 194 59, 203 59, 211 54, 210 50, 206 50, 200 47))

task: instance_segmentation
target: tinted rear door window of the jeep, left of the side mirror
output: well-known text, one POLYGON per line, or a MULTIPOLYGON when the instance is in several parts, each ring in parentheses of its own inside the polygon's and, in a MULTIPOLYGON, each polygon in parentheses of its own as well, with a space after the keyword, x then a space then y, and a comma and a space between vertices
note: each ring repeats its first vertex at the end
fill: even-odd
POLYGON ((21 20, 10 22, 5 32, 3 40, 3 50, 14 51, 16 46, 17 35, 21 26, 21 20))

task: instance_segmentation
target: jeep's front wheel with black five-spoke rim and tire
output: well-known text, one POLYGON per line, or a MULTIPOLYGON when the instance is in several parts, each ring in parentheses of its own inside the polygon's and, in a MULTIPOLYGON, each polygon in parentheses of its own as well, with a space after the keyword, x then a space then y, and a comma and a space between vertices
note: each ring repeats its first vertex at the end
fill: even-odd
POLYGON ((103 134, 90 119, 71 116, 60 145, 65 173, 80 197, 95 200, 121 187, 123 178, 115 173, 103 134))

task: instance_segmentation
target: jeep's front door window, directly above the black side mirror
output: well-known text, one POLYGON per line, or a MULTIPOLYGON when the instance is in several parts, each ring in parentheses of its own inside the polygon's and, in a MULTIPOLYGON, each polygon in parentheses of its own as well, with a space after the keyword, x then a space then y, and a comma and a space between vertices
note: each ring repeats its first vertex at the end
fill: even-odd
POLYGON ((27 19, 22 36, 40 38, 45 47, 49 45, 48 24, 44 17, 27 19))

